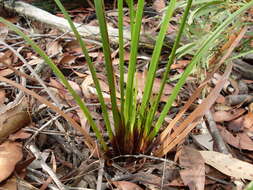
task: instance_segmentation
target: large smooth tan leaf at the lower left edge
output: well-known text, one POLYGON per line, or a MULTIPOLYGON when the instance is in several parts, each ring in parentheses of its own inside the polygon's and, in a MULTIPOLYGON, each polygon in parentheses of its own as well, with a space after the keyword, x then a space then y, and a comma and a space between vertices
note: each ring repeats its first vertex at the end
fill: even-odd
POLYGON ((8 178, 23 157, 22 145, 6 141, 0 145, 0 182, 8 178))

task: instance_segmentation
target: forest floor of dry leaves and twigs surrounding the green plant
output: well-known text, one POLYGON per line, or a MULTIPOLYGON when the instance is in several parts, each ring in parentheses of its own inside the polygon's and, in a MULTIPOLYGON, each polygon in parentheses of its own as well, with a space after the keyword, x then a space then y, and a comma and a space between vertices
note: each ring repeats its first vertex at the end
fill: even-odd
MULTIPOLYGON (((46 8, 39 1, 29 3, 37 3, 36 6, 62 17, 54 6, 51 7, 50 1, 46 4, 50 6, 46 8)), ((145 6, 142 25, 144 40, 138 51, 136 75, 140 94, 145 87, 154 36, 159 31, 165 5, 163 0, 155 0, 145 6)), ((65 6, 68 7, 73 21, 86 27, 98 26, 92 1, 87 0, 85 6, 81 6, 80 1, 66 1, 65 6)), ((116 6, 116 1, 105 3, 106 19, 111 28, 117 28, 116 6)), ((224 10, 221 12, 220 9, 215 9, 216 13, 213 13, 212 18, 209 18, 210 12, 206 13, 209 16, 204 13, 194 15, 197 8, 199 7, 195 6, 192 9, 192 17, 188 20, 188 30, 181 46, 186 47, 192 42, 195 44, 185 48, 172 65, 159 111, 197 47, 203 42, 201 40, 213 29, 214 22, 220 22, 215 14, 220 17, 227 14, 224 10), (211 22, 208 19, 216 20, 211 22)), ((159 90, 182 10, 177 9, 167 31, 154 82, 154 94, 159 90)), ((247 15, 253 15, 253 9, 248 10, 247 15)), ((57 27, 50 27, 47 23, 15 13, 15 9, 8 10, 3 6, 0 8, 0 16, 18 25, 50 56, 85 101, 97 125, 105 131, 91 74, 75 38, 57 27)), ((82 134, 43 101, 46 99, 53 102, 95 139, 94 132, 73 97, 43 59, 20 36, 0 23, 0 189, 246 189, 246 185, 253 181, 253 18, 245 16, 245 19, 250 23, 248 26, 234 23, 236 26, 224 34, 223 39, 216 44, 215 51, 207 55, 206 60, 200 61, 166 117, 164 126, 175 118, 196 89, 204 84, 208 73, 214 71, 199 98, 191 104, 183 117, 194 111, 222 78, 228 62, 222 63, 216 70, 214 68, 224 52, 235 45, 234 53, 229 57, 233 58, 230 61, 233 68, 228 80, 223 84, 211 109, 206 111, 205 116, 186 138, 163 158, 138 154, 110 159, 91 152, 85 145, 82 134), (248 51, 251 53, 243 54, 248 51), (30 68, 37 73, 44 86, 38 82, 30 68), (18 83, 19 88, 13 87, 5 79, 18 83), (23 89, 30 91, 24 93, 23 89), (49 98, 48 90, 54 100, 49 98), (36 98, 32 92, 42 100, 36 98)), ((130 18, 126 9, 124 26, 128 31, 129 25, 130 18)), ((85 42, 97 70, 105 101, 110 107, 101 42, 92 35, 87 35, 85 42)), ((111 50, 117 76, 118 44, 112 42, 111 50)), ((126 65, 129 54, 130 43, 126 40, 126 65)), ((120 97, 119 89, 117 97, 120 97)))

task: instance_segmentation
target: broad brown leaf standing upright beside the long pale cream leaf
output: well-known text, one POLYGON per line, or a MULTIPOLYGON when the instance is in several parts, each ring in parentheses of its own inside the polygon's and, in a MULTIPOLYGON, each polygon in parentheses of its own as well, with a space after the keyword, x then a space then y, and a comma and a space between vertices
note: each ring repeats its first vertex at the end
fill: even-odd
POLYGON ((202 190, 205 187, 205 162, 199 151, 183 147, 179 156, 180 165, 185 169, 180 170, 180 176, 190 190, 202 190))

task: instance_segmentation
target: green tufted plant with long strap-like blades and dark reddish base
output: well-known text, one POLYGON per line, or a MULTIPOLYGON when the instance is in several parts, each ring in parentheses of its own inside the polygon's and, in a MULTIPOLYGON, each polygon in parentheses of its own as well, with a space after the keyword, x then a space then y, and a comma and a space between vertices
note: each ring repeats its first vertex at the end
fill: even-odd
MULTIPOLYGON (((35 42, 33 42, 27 35, 20 31, 10 22, 6 21, 3 18, 0 18, 0 22, 6 24, 11 30, 15 31, 17 34, 22 36, 28 44, 45 60, 45 62, 51 67, 56 76, 61 80, 61 82, 66 86, 69 92, 74 97, 77 104, 80 106, 83 114, 86 116, 89 124, 91 125, 93 131, 96 134, 97 140, 101 145, 101 148, 105 152, 113 153, 114 155, 118 154, 135 154, 135 153, 150 153, 148 147, 152 144, 155 137, 157 136, 164 119, 169 112, 173 101, 176 99, 180 89, 186 82, 187 77, 191 73, 194 66, 204 58, 206 53, 210 50, 212 45, 215 43, 217 38, 226 30, 226 27, 233 22, 233 20, 243 13, 245 10, 250 8, 253 5, 253 1, 245 3, 238 9, 236 12, 230 14, 226 19, 219 24, 214 31, 212 31, 208 37, 200 45, 199 49, 195 52, 190 64, 185 69, 184 73, 178 80, 175 88, 172 91, 172 94, 168 98, 161 114, 159 117, 156 115, 158 104, 160 98, 163 94, 164 86, 168 79, 170 72, 170 67, 174 60, 176 59, 176 53, 179 50, 179 42, 181 36, 185 32, 185 26, 187 22, 187 17, 190 13, 190 8, 192 5, 192 0, 187 0, 186 5, 184 6, 184 13, 180 21, 180 26, 178 29, 175 42, 171 54, 169 56, 166 69, 162 78, 162 83, 160 86, 159 93, 154 96, 152 94, 153 83, 155 79, 155 73, 158 67, 158 62, 163 47, 163 41, 166 35, 167 28, 171 17, 173 16, 174 10, 176 8, 176 0, 171 0, 166 8, 161 28, 158 36, 156 37, 156 44, 152 53, 152 58, 149 63, 148 74, 146 79, 146 86, 143 92, 143 98, 141 102, 137 101, 137 89, 135 83, 135 73, 136 73, 136 62, 138 54, 138 45, 139 38, 141 34, 141 25, 142 25, 142 16, 144 10, 144 0, 138 0, 137 8, 134 8, 133 0, 126 0, 126 4, 129 6, 130 10, 130 20, 131 20, 131 52, 130 52, 130 61, 128 63, 128 69, 124 70, 124 35, 123 35, 123 0, 118 0, 118 29, 119 29, 119 60, 120 60, 120 106, 117 105, 116 99, 116 86, 115 86, 115 73, 112 66, 111 60, 111 51, 110 51, 110 42, 108 37, 106 19, 105 19, 105 10, 104 2, 102 0, 94 0, 96 14, 99 21, 101 41, 103 44, 103 53, 104 53, 104 62, 107 75, 107 82, 110 89, 110 100, 111 108, 113 113, 113 123, 109 120, 108 108, 104 102, 102 95, 101 87, 97 78, 96 70, 93 66, 91 58, 89 57, 88 50, 84 41, 82 40, 80 34, 78 33, 76 26, 71 21, 68 13, 64 9, 60 0, 55 0, 56 4, 64 14, 65 18, 68 20, 69 25, 74 32, 80 46, 82 48, 83 54, 87 60, 97 93, 98 99, 101 103, 102 114, 107 129, 107 133, 110 139, 110 145, 104 140, 99 128, 96 126, 93 121, 92 115, 89 112, 88 108, 85 106, 84 102, 77 95, 77 93, 72 89, 68 83, 65 76, 59 70, 59 68, 53 63, 53 61, 41 50, 35 42), (127 72, 127 81, 124 81, 124 73, 127 72), (152 100, 152 101, 151 101, 152 100), (110 148, 112 147, 112 149, 110 148)), ((193 15, 193 13, 192 13, 193 15)), ((192 19, 192 17, 191 17, 192 19)))

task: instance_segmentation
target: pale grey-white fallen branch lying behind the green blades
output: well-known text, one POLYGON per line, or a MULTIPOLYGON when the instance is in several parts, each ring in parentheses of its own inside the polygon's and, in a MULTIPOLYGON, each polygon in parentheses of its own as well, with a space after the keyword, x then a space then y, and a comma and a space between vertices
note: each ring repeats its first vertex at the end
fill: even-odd
MULTIPOLYGON (((0 0, 0 3, 3 4, 5 9, 14 11, 21 16, 39 21, 53 28, 57 28, 63 32, 70 32, 70 34, 73 34, 71 32, 71 29, 69 27, 67 20, 64 18, 52 15, 48 13, 47 11, 44 11, 40 8, 37 8, 33 5, 30 5, 21 1, 15 2, 14 6, 8 3, 8 1, 7 2, 5 1, 4 3, 3 2, 4 0, 0 0)), ((83 38, 100 40, 100 31, 99 31, 98 26, 88 26, 88 25, 77 24, 77 23, 74 23, 74 24, 83 38)), ((118 43, 118 29, 108 26, 108 34, 109 34, 111 42, 118 43)), ((148 37, 148 36, 149 36, 148 33, 145 33, 145 34, 142 33, 140 37, 140 43, 148 47, 150 46, 153 47, 155 43, 155 39, 153 37, 154 35, 152 35, 152 37, 148 37)), ((126 30, 126 29, 124 30, 124 39, 126 41, 131 40, 131 32, 129 30, 126 30)), ((174 41, 172 36, 167 36, 166 40, 168 41, 168 44, 171 44, 171 42, 174 41)))

